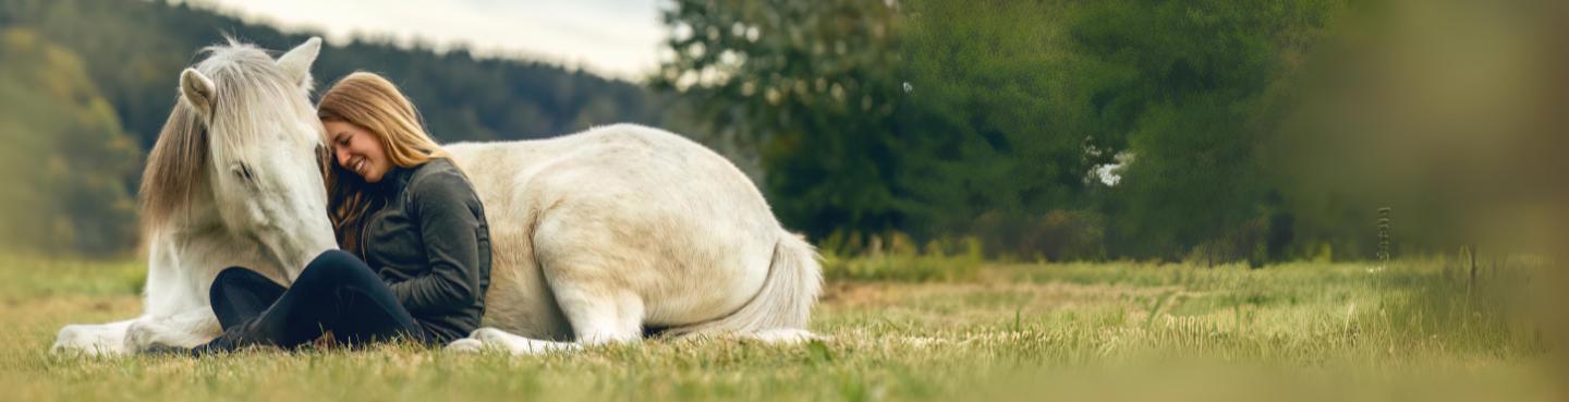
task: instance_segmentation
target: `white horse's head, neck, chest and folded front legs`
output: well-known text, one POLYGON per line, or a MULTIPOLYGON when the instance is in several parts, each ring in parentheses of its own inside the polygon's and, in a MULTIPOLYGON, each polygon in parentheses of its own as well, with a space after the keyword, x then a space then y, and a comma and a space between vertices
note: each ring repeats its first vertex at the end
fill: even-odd
POLYGON ((289 284, 337 248, 317 155, 323 129, 309 100, 319 50, 311 39, 273 60, 231 42, 180 74, 177 105, 143 173, 144 312, 66 325, 53 350, 199 345, 220 333, 207 295, 220 270, 249 267, 289 284))

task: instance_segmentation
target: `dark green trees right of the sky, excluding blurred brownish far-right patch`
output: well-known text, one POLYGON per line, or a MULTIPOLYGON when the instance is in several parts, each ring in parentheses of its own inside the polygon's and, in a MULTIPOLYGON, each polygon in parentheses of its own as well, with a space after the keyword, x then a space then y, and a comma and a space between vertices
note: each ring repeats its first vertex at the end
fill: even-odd
POLYGON ((1279 261, 1318 239, 1293 236, 1268 151, 1341 3, 678 2, 656 82, 756 138, 780 215, 814 239, 1279 261), (841 82, 876 91, 846 110, 841 82))

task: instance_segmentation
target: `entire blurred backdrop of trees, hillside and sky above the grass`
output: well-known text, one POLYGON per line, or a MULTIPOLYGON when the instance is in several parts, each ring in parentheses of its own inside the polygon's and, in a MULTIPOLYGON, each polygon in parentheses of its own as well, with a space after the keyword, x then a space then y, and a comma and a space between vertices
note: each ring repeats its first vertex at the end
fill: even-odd
POLYGON ((326 38, 444 141, 664 127, 830 254, 1549 256, 1561 2, 0 0, 0 248, 137 254, 141 163, 224 35, 326 38))

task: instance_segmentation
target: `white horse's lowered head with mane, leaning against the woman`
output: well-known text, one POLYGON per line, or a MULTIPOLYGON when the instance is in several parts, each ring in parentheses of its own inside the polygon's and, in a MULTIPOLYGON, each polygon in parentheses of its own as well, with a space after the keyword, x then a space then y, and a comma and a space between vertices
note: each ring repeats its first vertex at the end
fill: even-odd
POLYGON ((218 229, 257 243, 290 281, 337 247, 325 129, 309 100, 320 49, 311 38, 273 60, 231 39, 180 72, 179 104, 143 174, 144 232, 218 229))

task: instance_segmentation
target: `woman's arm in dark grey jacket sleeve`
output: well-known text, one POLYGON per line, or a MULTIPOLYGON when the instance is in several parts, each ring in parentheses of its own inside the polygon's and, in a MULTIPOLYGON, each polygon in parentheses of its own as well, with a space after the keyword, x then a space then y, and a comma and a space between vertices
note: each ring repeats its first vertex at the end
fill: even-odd
POLYGON ((392 284, 413 314, 468 308, 480 297, 479 196, 457 173, 435 173, 410 184, 430 272, 392 284))

